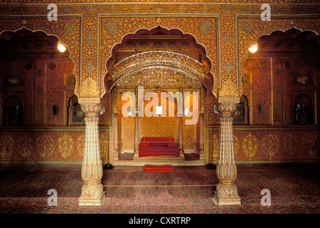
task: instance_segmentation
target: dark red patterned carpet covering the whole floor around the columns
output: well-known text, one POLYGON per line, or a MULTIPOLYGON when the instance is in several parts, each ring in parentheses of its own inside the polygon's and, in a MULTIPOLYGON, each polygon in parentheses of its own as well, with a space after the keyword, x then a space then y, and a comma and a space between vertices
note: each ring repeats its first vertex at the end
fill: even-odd
POLYGON ((174 167, 174 172, 144 172, 143 167, 104 170, 102 206, 79 206, 81 167, 0 167, 1 214, 319 214, 319 167, 238 167, 241 205, 216 206, 215 170, 174 167), (48 190, 58 205, 48 205, 48 190), (262 206, 270 190, 270 206, 262 206))

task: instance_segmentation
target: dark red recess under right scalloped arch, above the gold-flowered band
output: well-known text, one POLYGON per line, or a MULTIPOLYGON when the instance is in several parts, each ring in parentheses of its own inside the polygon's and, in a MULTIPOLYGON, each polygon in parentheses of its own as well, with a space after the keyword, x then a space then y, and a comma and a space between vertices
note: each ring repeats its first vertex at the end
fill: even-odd
POLYGON ((260 36, 257 47, 255 53, 248 51, 243 63, 242 86, 251 104, 250 124, 316 125, 320 36, 292 27, 260 36), (300 99, 302 94, 307 98, 300 99), (311 104, 307 113, 302 100, 311 104), (308 120, 297 120, 302 115, 309 116, 308 120))

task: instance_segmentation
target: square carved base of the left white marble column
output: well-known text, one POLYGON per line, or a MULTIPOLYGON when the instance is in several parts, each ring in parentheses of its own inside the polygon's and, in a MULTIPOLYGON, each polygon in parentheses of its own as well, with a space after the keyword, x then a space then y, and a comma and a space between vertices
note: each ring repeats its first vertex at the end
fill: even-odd
POLYGON ((83 185, 81 190, 81 196, 79 198, 79 206, 101 206, 103 199, 105 199, 105 191, 103 191, 102 184, 83 185))

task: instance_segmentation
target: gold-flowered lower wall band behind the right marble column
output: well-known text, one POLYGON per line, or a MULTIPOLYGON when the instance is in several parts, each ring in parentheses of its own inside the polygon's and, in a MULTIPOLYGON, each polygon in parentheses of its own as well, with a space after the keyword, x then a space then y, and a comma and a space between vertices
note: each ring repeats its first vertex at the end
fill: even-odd
MULTIPOLYGON (((312 162, 319 159, 319 128, 234 127, 238 164, 312 162), (299 129, 299 130, 298 130, 299 129)), ((216 162, 219 128, 206 127, 206 162, 216 162)))

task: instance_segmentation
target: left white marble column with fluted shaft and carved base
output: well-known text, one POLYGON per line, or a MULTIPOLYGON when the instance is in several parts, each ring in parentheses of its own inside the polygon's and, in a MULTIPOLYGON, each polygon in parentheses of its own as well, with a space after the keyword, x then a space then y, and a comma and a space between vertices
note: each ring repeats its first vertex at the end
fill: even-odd
POLYGON ((101 205, 105 192, 101 183, 102 160, 99 145, 100 103, 80 103, 85 113, 85 147, 83 152, 81 177, 83 180, 79 205, 101 205))

